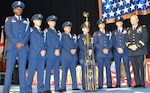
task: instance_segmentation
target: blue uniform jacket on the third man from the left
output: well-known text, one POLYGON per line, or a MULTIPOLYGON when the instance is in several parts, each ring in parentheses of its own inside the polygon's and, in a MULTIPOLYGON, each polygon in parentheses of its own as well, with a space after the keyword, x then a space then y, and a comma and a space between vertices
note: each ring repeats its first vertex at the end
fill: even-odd
POLYGON ((54 58, 56 55, 54 54, 54 51, 56 49, 61 50, 61 33, 51 29, 47 28, 48 32, 46 33, 47 37, 47 58, 54 58))

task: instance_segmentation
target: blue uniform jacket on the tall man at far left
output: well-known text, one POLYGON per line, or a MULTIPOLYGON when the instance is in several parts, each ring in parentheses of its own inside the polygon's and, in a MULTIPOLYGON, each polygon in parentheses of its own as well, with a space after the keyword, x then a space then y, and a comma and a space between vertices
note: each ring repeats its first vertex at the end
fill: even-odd
POLYGON ((15 49, 19 42, 22 42, 24 48, 28 50, 30 31, 26 19, 22 18, 22 20, 19 21, 15 16, 7 17, 5 22, 5 33, 8 37, 6 50, 15 49))

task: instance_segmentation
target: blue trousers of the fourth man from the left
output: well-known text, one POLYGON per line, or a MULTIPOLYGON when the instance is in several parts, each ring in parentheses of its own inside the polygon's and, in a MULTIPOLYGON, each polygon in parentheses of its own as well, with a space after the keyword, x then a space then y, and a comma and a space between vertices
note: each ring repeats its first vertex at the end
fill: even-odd
POLYGON ((62 84, 61 88, 66 89, 66 79, 67 72, 70 68, 71 77, 72 77, 72 89, 77 89, 77 80, 76 80, 76 61, 75 60, 63 60, 62 61, 62 84))

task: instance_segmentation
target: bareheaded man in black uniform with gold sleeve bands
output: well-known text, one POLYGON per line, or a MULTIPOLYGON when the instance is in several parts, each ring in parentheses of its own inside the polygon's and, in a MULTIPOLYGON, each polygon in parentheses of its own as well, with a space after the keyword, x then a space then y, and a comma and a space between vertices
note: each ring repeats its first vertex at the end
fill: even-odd
POLYGON ((139 25, 137 15, 130 17, 132 27, 128 29, 126 46, 129 48, 129 57, 134 70, 136 85, 134 88, 145 88, 144 56, 147 54, 148 33, 146 26, 139 25))

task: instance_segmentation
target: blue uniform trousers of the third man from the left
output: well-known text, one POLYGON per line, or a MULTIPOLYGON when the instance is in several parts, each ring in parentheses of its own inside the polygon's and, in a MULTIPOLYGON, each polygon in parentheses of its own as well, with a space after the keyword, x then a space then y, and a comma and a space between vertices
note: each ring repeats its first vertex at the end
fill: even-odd
POLYGON ((45 79, 45 90, 50 90, 50 80, 52 69, 54 69, 54 83, 55 90, 59 90, 59 66, 60 66, 60 58, 48 58, 46 61, 46 79, 45 79))

